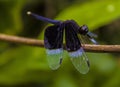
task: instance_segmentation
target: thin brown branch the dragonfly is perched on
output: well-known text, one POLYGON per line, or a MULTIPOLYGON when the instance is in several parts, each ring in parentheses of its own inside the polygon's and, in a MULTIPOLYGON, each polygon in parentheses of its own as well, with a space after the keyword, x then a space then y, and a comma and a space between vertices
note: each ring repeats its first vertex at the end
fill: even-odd
MULTIPOLYGON (((31 45, 31 46, 37 46, 37 47, 44 47, 43 40, 36 40, 36 39, 30 39, 30 38, 24 38, 24 37, 18 37, 18 36, 11 36, 11 35, 5 35, 0 34, 0 40, 11 42, 11 43, 19 43, 19 44, 25 44, 25 45, 31 45)), ((90 45, 90 44, 84 44, 83 48, 87 52, 120 52, 120 45, 90 45)))

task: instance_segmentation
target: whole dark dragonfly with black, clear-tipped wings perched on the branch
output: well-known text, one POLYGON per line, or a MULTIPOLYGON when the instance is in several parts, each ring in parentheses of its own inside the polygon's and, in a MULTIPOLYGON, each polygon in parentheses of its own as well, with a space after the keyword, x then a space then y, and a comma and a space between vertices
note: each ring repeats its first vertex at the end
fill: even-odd
POLYGON ((63 35, 65 32, 65 44, 70 60, 74 67, 82 74, 89 71, 90 63, 81 44, 78 34, 87 36, 91 42, 97 44, 95 34, 88 30, 87 25, 79 26, 74 20, 52 20, 30 11, 28 15, 38 20, 51 23, 44 32, 44 46, 46 49, 47 60, 50 68, 56 70, 60 67, 63 60, 63 35))

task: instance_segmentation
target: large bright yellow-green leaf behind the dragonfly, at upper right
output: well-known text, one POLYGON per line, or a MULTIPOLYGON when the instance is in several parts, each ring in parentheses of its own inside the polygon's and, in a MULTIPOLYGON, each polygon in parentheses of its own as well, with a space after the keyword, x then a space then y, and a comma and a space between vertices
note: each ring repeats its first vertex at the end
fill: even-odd
POLYGON ((78 24, 86 24, 90 30, 106 25, 120 16, 120 1, 92 1, 73 5, 62 11, 56 19, 74 19, 78 24))

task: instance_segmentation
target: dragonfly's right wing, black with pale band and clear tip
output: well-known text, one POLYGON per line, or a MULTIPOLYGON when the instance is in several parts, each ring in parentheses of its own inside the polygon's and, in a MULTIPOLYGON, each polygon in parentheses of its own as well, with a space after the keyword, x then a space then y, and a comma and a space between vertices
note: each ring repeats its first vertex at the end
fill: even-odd
POLYGON ((89 71, 89 61, 81 46, 74 24, 67 21, 65 24, 66 49, 75 68, 82 74, 89 71))

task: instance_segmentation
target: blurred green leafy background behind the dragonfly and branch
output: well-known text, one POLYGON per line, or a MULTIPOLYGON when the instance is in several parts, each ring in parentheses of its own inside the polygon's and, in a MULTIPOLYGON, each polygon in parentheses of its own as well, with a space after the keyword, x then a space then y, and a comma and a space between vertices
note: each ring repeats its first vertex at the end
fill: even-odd
MULTIPOLYGON (((100 44, 120 43, 120 0, 0 0, 0 33, 43 39, 47 23, 26 15, 32 11, 88 25, 100 44)), ((65 51, 52 71, 45 49, 0 41, 0 87, 120 87, 119 53, 87 53, 90 71, 80 74, 65 51)))

